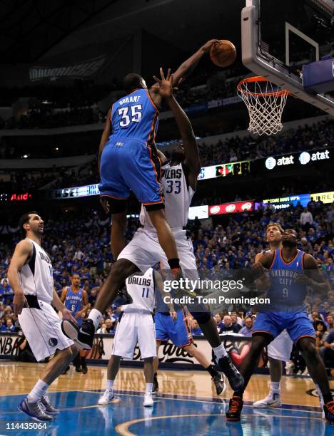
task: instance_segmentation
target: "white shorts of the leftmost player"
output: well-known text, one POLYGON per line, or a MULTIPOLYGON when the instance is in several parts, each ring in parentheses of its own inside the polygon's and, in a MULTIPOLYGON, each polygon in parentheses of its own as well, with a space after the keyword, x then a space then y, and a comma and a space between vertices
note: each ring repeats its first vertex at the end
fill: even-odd
POLYGON ((40 308, 23 308, 19 323, 36 360, 44 360, 54 355, 56 350, 64 350, 73 345, 61 331, 61 320, 51 304, 38 300, 40 308))

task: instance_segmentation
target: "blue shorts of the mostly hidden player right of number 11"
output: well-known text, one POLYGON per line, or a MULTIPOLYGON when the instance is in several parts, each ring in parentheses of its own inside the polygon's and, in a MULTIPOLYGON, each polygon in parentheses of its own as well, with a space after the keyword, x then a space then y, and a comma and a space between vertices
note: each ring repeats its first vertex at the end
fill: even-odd
POLYGON ((169 313, 157 312, 155 314, 156 340, 168 341, 168 339, 170 339, 177 347, 185 347, 193 342, 193 337, 184 320, 185 314, 183 310, 180 309, 176 313, 178 317, 175 321, 171 318, 169 313))

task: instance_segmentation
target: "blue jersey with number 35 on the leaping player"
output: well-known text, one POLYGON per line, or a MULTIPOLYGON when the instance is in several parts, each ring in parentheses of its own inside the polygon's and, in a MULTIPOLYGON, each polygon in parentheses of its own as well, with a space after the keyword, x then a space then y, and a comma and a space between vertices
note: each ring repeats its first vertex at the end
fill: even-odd
POLYGON ((110 140, 131 138, 154 143, 158 130, 158 109, 147 89, 136 89, 120 98, 111 109, 110 140))

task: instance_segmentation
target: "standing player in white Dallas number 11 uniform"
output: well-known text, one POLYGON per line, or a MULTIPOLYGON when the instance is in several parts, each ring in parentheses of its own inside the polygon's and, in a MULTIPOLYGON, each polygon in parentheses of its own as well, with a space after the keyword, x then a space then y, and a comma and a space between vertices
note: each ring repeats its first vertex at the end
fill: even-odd
POLYGON ((133 358, 138 342, 141 358, 144 361, 146 390, 143 405, 153 406, 153 358, 156 356, 156 332, 153 322, 153 308, 156 295, 156 273, 149 268, 144 274, 135 274, 126 279, 126 290, 133 303, 123 306, 118 322, 113 351, 108 362, 106 390, 98 400, 99 405, 107 405, 113 400, 113 383, 119 370, 121 358, 133 358))

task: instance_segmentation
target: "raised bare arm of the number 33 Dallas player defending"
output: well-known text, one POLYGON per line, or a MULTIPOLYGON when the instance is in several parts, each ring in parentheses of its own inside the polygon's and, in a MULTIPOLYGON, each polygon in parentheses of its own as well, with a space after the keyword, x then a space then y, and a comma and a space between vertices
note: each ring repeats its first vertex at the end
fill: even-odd
POLYGON ((185 165, 188 169, 188 180, 193 190, 196 190, 197 177, 201 171, 201 162, 193 128, 191 127, 191 122, 186 113, 173 95, 173 75, 171 75, 171 71, 168 70, 165 78, 163 69, 160 68, 160 74, 161 79, 156 78, 156 76, 154 76, 154 79, 159 85, 159 94, 166 100, 169 108, 171 108, 178 129, 180 130, 183 149, 186 155, 185 165))

